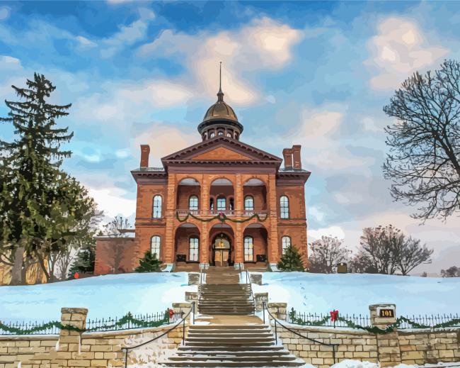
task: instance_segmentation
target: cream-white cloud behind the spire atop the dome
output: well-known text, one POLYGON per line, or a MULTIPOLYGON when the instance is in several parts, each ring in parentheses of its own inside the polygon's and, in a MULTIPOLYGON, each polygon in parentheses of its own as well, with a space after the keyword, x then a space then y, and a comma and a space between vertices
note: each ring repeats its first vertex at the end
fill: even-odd
POLYGON ((164 30, 156 40, 139 48, 139 55, 152 53, 180 55, 191 78, 180 82, 204 96, 215 94, 222 61, 222 89, 225 100, 240 106, 251 105, 261 97, 245 74, 257 69, 279 69, 292 59, 292 47, 301 40, 300 30, 261 18, 236 31, 211 35, 187 35, 164 30), (212 71, 215 72, 212 72, 212 71))

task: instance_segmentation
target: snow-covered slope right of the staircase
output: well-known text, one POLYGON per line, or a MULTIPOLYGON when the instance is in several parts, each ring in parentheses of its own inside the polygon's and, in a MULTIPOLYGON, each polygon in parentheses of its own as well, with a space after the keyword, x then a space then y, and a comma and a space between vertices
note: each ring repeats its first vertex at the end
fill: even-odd
POLYGON ((264 272, 262 286, 269 301, 286 302, 298 312, 369 313, 369 305, 396 303, 398 316, 459 313, 460 278, 389 276, 382 274, 311 274, 264 272))

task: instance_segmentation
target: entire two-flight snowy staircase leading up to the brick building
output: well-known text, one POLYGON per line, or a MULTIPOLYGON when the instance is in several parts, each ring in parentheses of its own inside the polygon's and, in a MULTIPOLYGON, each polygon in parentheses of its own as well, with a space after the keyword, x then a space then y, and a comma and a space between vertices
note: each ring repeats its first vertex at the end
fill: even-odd
POLYGON ((275 343, 270 326, 254 312, 249 285, 239 284, 239 272, 209 269, 200 286, 195 325, 185 344, 161 362, 162 367, 300 367, 304 361, 275 343))

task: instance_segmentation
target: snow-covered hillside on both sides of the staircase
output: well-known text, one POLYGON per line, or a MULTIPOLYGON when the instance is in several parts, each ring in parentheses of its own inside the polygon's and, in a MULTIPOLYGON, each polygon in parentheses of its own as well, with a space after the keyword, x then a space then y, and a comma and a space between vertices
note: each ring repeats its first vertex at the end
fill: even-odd
MULTIPOLYGON (((369 313, 372 303, 396 303, 397 313, 458 313, 460 278, 386 276, 376 274, 309 274, 265 272, 263 285, 270 301, 284 301, 299 312, 369 313)), ((0 287, 0 320, 59 320, 62 307, 89 309, 89 318, 164 311, 183 301, 187 274, 119 274, 55 284, 0 287)))

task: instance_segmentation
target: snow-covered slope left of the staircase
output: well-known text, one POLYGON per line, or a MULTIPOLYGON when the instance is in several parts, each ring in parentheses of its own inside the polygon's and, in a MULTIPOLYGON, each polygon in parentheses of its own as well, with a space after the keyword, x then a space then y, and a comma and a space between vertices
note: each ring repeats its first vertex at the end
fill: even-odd
POLYGON ((185 272, 113 274, 54 284, 0 287, 0 320, 59 320, 62 307, 88 308, 89 318, 121 317, 127 312, 157 313, 184 301, 185 272))

